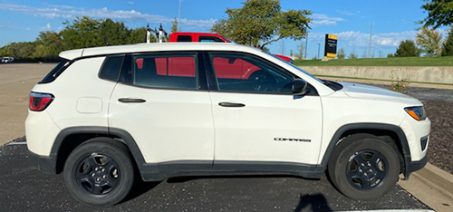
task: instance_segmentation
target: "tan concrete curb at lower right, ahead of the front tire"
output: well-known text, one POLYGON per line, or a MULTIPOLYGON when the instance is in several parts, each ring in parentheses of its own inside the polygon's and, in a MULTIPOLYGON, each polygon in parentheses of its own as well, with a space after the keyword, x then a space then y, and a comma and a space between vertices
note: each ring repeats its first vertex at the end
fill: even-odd
POLYGON ((453 211, 453 175, 447 171, 427 163, 398 184, 437 212, 453 211))

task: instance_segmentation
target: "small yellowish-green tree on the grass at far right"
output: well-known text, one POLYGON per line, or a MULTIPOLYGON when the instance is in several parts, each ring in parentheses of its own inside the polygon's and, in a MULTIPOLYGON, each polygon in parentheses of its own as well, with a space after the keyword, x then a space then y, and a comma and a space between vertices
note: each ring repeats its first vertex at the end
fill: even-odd
POLYGON ((442 34, 437 30, 423 27, 417 34, 416 43, 420 46, 422 53, 427 53, 429 56, 440 56, 442 34))

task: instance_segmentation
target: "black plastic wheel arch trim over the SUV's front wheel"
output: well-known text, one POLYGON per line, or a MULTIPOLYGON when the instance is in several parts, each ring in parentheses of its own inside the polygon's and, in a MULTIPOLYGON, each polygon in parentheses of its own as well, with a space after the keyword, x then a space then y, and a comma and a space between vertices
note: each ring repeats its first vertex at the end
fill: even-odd
POLYGON ((401 161, 403 163, 401 164, 401 172, 404 174, 405 178, 409 177, 408 166, 411 159, 406 135, 399 126, 385 123, 352 123, 343 125, 333 134, 329 146, 324 152, 321 166, 323 168, 327 168, 329 159, 331 158, 331 155, 333 153, 333 149, 335 149, 339 140, 357 133, 367 133, 378 137, 389 136, 391 140, 394 140, 395 145, 397 146, 403 160, 401 161))

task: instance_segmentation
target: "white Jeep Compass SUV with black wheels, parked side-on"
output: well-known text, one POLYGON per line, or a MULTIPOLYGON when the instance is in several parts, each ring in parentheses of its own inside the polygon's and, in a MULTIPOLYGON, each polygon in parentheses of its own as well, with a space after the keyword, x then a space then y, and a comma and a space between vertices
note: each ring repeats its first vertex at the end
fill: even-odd
POLYGON ((25 121, 39 169, 72 196, 110 206, 134 178, 287 174, 354 199, 384 195, 427 162, 420 101, 319 80, 234 43, 72 50, 30 93, 25 121))

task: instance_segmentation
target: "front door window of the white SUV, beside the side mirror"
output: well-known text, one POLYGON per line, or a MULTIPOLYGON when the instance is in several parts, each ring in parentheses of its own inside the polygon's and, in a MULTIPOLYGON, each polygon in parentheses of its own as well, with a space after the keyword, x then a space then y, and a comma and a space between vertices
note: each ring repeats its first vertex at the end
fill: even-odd
POLYGON ((242 53, 211 53, 219 91, 292 94, 292 74, 242 53))

